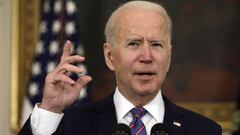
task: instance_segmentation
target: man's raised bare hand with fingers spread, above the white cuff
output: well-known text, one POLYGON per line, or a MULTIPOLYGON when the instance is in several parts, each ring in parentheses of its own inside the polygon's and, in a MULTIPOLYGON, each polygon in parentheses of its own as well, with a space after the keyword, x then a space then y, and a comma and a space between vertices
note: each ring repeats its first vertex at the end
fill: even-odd
POLYGON ((83 62, 84 57, 71 56, 72 44, 67 41, 61 61, 58 66, 45 79, 44 93, 40 108, 60 113, 77 100, 81 89, 92 80, 90 76, 83 75, 74 81, 69 77, 71 72, 81 74, 83 68, 72 65, 72 63, 83 62))

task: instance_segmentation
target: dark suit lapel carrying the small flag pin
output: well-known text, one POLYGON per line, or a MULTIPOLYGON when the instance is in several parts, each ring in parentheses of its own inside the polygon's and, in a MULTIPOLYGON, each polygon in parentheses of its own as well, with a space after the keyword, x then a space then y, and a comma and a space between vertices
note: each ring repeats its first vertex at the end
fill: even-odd
POLYGON ((165 114, 163 123, 167 126, 169 135, 184 135, 187 123, 183 122, 184 113, 178 106, 163 96, 165 103, 165 114))

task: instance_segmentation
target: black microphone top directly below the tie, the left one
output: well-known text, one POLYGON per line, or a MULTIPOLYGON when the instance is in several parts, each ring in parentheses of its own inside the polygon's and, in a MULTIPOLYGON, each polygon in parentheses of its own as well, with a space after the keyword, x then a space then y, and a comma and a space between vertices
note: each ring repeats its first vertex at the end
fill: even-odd
POLYGON ((112 135, 131 135, 131 131, 127 125, 120 123, 113 128, 112 135))

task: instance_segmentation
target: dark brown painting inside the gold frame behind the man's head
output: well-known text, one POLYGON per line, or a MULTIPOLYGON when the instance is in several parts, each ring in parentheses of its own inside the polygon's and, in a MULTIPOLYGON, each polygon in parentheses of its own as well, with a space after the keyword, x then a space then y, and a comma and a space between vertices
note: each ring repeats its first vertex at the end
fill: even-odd
MULTIPOLYGON (((80 40, 85 46, 91 95, 115 89, 103 59, 104 26, 126 0, 78 1, 80 40)), ((162 88, 175 101, 234 101, 240 89, 240 1, 156 0, 173 20, 172 65, 162 88)))

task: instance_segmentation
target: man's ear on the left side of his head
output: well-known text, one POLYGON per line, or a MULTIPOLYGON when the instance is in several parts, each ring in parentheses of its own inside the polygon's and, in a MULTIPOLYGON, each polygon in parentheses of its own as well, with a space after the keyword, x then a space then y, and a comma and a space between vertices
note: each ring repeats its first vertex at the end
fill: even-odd
POLYGON ((113 56, 112 56, 112 47, 109 43, 104 43, 103 45, 103 53, 105 58, 105 63, 107 64, 108 68, 112 71, 115 70, 114 64, 113 64, 113 56))

